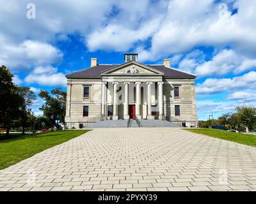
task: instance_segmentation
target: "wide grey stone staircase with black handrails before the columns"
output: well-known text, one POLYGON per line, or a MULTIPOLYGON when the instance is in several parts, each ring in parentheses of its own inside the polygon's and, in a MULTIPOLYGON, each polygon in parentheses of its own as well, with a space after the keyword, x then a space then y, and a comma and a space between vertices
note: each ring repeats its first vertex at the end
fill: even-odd
MULTIPOLYGON (((83 127, 88 128, 127 128, 128 120, 103 120, 83 127)), ((180 128, 177 124, 167 120, 140 120, 141 128, 180 128)), ((139 128, 136 120, 131 120, 129 128, 139 128)))

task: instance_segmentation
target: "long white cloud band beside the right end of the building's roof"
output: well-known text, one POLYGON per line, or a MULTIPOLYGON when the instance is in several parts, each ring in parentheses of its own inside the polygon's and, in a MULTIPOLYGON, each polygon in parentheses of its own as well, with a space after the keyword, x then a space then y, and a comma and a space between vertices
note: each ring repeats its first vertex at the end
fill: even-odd
POLYGON ((248 88, 256 88, 255 71, 234 78, 207 78, 202 84, 196 84, 196 93, 211 94, 248 88))

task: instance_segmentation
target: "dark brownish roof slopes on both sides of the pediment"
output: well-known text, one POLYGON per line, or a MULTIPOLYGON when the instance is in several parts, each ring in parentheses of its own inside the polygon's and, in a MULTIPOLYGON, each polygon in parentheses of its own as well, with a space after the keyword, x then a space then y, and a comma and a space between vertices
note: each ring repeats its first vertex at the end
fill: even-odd
MULTIPOLYGON (((100 72, 118 66, 119 64, 98 64, 92 68, 83 69, 66 75, 67 78, 86 78, 86 77, 101 77, 100 72)), ((164 73, 163 77, 173 78, 196 78, 195 75, 185 73, 173 68, 167 68, 164 65, 147 65, 164 73)))

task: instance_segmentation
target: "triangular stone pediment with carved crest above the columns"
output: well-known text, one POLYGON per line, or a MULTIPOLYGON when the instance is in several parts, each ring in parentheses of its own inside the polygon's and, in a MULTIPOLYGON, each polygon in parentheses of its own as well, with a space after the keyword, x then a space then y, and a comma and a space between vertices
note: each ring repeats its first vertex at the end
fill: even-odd
POLYGON ((164 73, 141 64, 136 61, 125 62, 106 71, 102 71, 101 75, 163 75, 164 73))

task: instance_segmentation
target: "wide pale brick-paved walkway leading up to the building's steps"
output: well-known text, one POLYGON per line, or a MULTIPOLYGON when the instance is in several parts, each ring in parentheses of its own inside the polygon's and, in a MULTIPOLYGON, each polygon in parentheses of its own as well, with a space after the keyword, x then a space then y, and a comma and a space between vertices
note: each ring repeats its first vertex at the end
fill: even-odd
POLYGON ((0 191, 256 189, 256 148, 175 128, 95 129, 0 170, 0 191))

